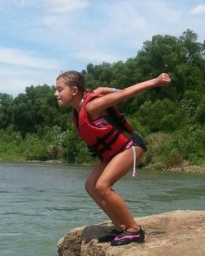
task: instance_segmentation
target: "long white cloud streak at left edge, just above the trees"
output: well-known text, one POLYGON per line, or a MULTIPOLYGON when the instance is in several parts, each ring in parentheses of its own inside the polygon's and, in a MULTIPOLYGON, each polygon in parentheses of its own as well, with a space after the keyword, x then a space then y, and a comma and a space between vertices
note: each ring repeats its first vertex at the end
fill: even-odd
POLYGON ((0 47, 0 62, 16 66, 29 66, 44 70, 60 69, 59 62, 49 58, 38 57, 34 53, 25 53, 15 48, 0 47))

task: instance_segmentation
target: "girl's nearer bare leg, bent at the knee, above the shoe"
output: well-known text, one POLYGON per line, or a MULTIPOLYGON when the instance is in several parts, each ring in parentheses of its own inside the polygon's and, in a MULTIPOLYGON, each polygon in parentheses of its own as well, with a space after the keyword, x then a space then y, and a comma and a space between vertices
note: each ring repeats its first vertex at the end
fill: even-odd
MULTIPOLYGON (((144 150, 135 147, 137 158, 139 159, 144 150)), ((121 197, 112 191, 112 185, 116 183, 122 176, 125 176, 127 171, 133 165, 133 152, 132 149, 126 149, 125 151, 118 153, 112 161, 107 164, 102 175, 98 178, 96 183, 96 191, 101 196, 102 203, 112 210, 112 214, 116 217, 113 222, 120 222, 125 226, 125 229, 130 231, 139 230, 138 224, 131 216, 129 209, 121 197)))

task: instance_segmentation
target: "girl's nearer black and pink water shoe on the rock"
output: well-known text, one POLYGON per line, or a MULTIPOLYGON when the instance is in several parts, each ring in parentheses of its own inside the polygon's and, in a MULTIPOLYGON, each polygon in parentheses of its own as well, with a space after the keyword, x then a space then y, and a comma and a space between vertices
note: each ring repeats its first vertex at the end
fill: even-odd
POLYGON ((123 231, 121 235, 117 235, 116 238, 112 240, 111 245, 128 245, 131 242, 144 243, 144 231, 141 226, 139 226, 139 231, 123 231))

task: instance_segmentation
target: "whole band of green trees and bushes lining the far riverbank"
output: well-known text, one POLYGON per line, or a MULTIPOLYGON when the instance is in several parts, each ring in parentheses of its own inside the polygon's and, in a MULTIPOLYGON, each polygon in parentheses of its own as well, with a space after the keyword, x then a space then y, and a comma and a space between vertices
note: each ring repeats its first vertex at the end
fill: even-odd
MULTIPOLYGON (((82 71, 86 87, 124 89, 171 75, 171 86, 149 89, 118 109, 148 142, 141 164, 178 166, 205 162, 205 41, 186 30, 180 37, 154 35, 125 62, 93 65, 82 71)), ((59 108, 55 86, 26 87, 15 98, 0 94, 0 159, 92 163, 71 124, 71 108, 59 108)))

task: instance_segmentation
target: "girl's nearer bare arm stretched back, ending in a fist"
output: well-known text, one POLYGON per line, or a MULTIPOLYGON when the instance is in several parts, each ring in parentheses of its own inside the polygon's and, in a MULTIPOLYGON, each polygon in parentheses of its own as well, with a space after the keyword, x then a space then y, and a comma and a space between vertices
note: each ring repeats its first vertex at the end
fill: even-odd
POLYGON ((147 89, 157 86, 166 86, 170 84, 170 76, 166 73, 162 73, 157 78, 144 81, 137 85, 131 85, 130 87, 116 91, 115 94, 106 94, 103 97, 95 98, 86 105, 86 109, 89 115, 92 117, 98 115, 98 113, 105 111, 107 107, 115 106, 116 104, 121 103, 125 99, 134 97, 135 95, 144 92, 147 89))

